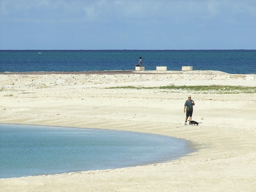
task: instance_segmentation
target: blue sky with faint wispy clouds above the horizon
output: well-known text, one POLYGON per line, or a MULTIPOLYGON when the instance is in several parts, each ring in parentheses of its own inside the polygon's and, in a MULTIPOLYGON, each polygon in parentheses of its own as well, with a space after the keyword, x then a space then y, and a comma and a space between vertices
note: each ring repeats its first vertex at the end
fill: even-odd
POLYGON ((256 0, 0 0, 0 49, 256 49, 256 0))

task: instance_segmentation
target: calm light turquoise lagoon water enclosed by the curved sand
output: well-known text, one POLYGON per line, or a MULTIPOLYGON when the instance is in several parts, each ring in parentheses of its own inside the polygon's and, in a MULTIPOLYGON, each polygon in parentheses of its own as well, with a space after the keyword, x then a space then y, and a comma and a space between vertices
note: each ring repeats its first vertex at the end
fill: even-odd
POLYGON ((0 124, 0 178, 146 165, 190 152, 186 140, 163 135, 0 124))

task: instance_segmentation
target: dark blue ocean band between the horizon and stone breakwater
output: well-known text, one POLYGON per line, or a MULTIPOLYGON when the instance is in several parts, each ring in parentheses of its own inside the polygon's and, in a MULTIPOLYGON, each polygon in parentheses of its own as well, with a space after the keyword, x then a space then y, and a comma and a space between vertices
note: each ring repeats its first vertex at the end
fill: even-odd
POLYGON ((135 70, 219 70, 255 74, 256 50, 0 50, 0 72, 135 70))

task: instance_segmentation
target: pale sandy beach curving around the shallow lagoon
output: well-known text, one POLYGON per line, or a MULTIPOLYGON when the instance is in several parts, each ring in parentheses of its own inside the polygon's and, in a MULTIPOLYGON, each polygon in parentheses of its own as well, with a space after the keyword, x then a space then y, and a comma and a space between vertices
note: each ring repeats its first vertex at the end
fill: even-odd
POLYGON ((256 75, 216 71, 125 74, 0 74, 0 123, 162 134, 197 151, 166 163, 0 179, 0 192, 256 191, 256 93, 111 88, 256 86, 256 75), (195 101, 184 125, 184 103, 195 101))

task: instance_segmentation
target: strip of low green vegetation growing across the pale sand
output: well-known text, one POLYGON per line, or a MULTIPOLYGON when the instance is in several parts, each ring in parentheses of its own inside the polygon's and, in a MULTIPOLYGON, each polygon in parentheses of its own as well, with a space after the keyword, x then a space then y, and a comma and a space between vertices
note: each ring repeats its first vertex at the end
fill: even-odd
POLYGON ((135 86, 124 86, 124 87, 110 87, 110 89, 167 89, 172 91, 188 91, 192 93, 256 93, 256 87, 246 86, 230 86, 230 85, 194 85, 194 86, 175 86, 170 84, 167 86, 160 87, 135 87, 135 86))

